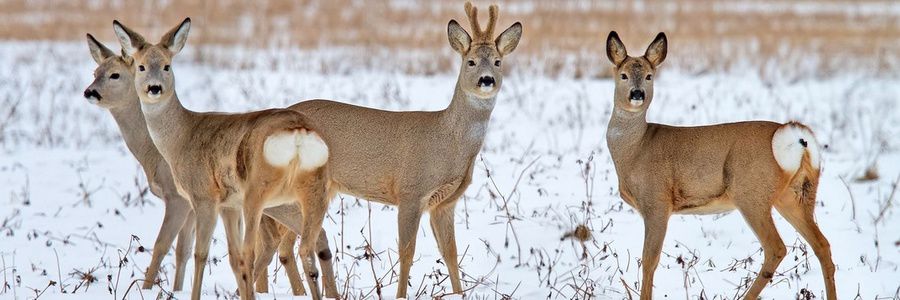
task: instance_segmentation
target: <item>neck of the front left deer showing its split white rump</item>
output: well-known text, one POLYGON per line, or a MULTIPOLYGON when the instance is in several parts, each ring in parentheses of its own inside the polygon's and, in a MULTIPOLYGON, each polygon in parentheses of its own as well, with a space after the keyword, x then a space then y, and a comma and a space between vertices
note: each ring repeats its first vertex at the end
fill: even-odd
POLYGON ((153 144, 167 160, 171 159, 170 155, 178 152, 177 146, 183 142, 182 139, 190 138, 185 132, 192 124, 191 111, 181 105, 177 93, 166 101, 152 104, 141 101, 141 110, 153 144))

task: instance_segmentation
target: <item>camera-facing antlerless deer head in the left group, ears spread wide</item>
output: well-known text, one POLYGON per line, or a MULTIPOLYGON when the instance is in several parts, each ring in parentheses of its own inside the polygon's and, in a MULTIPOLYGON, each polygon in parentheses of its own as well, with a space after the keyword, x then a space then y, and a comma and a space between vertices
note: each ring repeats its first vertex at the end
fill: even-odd
POLYGON ((147 43, 143 36, 118 20, 113 21, 113 29, 122 44, 122 51, 134 59, 134 88, 141 102, 152 104, 170 99, 175 92, 172 58, 187 42, 191 19, 184 19, 156 44, 147 43))

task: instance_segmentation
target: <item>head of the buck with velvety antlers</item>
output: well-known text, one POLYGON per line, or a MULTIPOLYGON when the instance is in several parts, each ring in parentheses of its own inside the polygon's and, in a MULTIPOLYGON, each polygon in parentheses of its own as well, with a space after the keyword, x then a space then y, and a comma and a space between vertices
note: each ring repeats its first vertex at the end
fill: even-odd
POLYGON ((463 92, 475 98, 493 98, 503 81, 500 68, 503 57, 519 44, 522 24, 514 23, 494 39, 497 5, 490 6, 488 24, 484 30, 478 24, 478 9, 471 2, 466 2, 466 15, 473 35, 469 35, 456 20, 450 20, 447 24, 450 46, 461 55, 463 62, 458 85, 463 92))

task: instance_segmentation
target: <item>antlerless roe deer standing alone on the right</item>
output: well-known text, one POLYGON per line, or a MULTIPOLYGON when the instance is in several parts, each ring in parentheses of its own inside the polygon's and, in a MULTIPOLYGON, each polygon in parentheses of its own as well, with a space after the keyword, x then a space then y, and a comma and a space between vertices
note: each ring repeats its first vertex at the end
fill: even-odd
POLYGON ((812 246, 822 266, 828 299, 835 299, 831 248, 813 213, 820 154, 812 131, 794 122, 699 127, 647 123, 653 76, 666 51, 663 33, 640 57, 628 56, 615 31, 606 41, 606 55, 615 65, 607 145, 622 199, 644 220, 641 299, 652 299, 653 273, 670 215, 734 209, 765 253, 762 268, 745 294, 746 299, 756 299, 786 253, 772 220, 773 206, 812 246))

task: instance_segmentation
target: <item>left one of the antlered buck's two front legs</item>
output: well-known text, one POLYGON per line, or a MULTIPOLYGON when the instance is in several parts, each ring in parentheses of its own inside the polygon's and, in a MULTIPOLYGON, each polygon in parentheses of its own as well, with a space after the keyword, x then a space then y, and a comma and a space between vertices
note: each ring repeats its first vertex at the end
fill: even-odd
POLYGON ((397 298, 406 298, 409 269, 416 254, 416 235, 419 231, 422 210, 419 208, 419 199, 400 200, 399 203, 397 228, 400 231, 400 238, 397 248, 400 252, 400 278, 397 280, 397 298))

